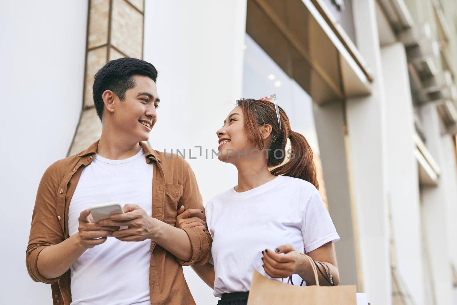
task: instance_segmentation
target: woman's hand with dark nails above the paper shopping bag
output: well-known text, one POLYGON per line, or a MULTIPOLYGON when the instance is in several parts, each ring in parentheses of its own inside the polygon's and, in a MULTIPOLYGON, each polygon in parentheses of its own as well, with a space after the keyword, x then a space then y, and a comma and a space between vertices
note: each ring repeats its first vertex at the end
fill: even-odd
POLYGON ((262 254, 263 268, 272 278, 288 278, 292 274, 301 274, 307 267, 308 261, 305 262, 303 255, 289 244, 279 246, 275 250, 265 249, 262 254))

